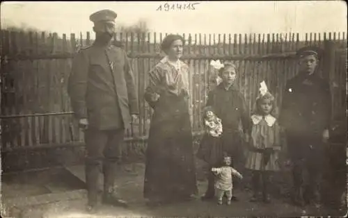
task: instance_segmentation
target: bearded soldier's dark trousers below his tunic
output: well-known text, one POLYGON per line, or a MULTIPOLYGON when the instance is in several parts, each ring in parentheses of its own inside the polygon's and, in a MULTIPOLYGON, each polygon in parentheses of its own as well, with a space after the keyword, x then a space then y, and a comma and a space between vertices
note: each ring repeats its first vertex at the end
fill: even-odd
POLYGON ((88 128, 85 132, 86 184, 90 204, 97 202, 101 172, 104 174, 104 192, 113 189, 124 133, 124 129, 100 131, 94 128, 88 128))

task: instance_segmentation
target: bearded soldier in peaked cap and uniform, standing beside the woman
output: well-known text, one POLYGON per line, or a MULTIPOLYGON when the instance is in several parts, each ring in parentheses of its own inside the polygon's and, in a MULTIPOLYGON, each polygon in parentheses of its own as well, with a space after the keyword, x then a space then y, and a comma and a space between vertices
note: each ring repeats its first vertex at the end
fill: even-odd
POLYGON ((120 161, 125 128, 138 121, 134 76, 124 50, 112 44, 116 12, 100 10, 90 15, 95 42, 79 50, 68 81, 72 109, 85 130, 88 210, 97 206, 97 181, 104 174, 102 202, 127 206, 116 196, 114 180, 120 161))

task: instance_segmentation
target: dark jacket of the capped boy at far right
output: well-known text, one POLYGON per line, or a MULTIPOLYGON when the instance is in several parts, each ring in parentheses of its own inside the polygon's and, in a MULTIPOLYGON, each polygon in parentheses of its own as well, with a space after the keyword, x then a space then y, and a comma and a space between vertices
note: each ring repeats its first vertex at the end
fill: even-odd
POLYGON ((298 74, 287 81, 279 124, 290 135, 322 135, 331 120, 329 83, 316 74, 298 74))

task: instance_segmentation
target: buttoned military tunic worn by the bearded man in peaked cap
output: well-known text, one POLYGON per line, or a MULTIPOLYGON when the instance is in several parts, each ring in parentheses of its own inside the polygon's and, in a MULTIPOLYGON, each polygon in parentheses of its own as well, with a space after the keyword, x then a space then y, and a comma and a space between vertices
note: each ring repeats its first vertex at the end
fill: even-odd
POLYGON ((68 92, 78 119, 88 118, 100 130, 127 127, 130 113, 138 114, 134 76, 125 51, 93 44, 72 62, 68 92))

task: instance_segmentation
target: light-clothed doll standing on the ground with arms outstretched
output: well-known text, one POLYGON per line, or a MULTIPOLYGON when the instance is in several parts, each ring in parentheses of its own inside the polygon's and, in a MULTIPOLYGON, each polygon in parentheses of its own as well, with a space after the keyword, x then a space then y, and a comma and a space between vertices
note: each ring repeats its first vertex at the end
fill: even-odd
POLYGON ((227 204, 231 204, 231 199, 233 196, 233 183, 232 183, 232 176, 237 176, 240 179, 243 178, 242 174, 239 174, 239 172, 234 169, 233 167, 230 167, 231 165, 231 158, 226 156, 223 158, 223 166, 219 168, 212 168, 212 172, 216 176, 215 180, 215 194, 216 198, 218 200, 218 204, 222 204, 222 198, 224 195, 227 197, 227 204))

